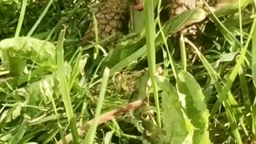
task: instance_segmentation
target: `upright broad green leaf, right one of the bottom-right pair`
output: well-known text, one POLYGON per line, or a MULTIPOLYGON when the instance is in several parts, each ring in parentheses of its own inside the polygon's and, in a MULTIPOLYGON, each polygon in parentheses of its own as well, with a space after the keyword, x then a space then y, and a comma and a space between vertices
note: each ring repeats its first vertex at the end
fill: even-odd
POLYGON ((186 71, 181 71, 178 74, 178 96, 185 98, 186 114, 190 118, 192 125, 195 127, 193 143, 210 143, 208 132, 208 118, 210 116, 206 103, 205 96, 198 82, 194 77, 186 71))

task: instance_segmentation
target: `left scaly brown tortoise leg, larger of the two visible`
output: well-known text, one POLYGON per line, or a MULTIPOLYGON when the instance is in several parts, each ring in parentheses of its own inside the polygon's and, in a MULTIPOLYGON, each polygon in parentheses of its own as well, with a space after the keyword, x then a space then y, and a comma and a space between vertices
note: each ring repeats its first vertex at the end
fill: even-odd
MULTIPOLYGON (((99 4, 98 10, 95 13, 98 22, 99 38, 107 38, 118 31, 127 29, 130 3, 130 0, 106 0, 106 2, 99 4)), ((94 38, 94 25, 91 25, 82 38, 81 44, 86 44, 86 42, 94 38)))

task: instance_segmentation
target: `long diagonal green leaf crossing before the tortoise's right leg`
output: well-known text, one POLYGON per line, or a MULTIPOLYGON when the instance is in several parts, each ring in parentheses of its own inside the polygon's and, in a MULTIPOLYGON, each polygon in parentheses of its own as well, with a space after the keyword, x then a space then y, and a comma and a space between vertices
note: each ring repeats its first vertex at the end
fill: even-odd
MULTIPOLYGON (((189 26, 196 22, 202 22, 206 18, 206 12, 202 9, 187 10, 186 12, 179 14, 178 16, 171 18, 166 22, 166 26, 163 29, 164 34, 174 34, 178 30, 182 30, 184 27, 189 26)), ((156 38, 156 47, 161 46, 164 42, 159 35, 156 38)), ((146 44, 144 38, 135 37, 126 42, 122 42, 122 45, 116 46, 113 51, 110 51, 108 60, 108 66, 110 69, 110 75, 122 70, 126 66, 133 62, 137 58, 146 55, 146 44), (137 51, 135 51, 137 50, 137 51)))

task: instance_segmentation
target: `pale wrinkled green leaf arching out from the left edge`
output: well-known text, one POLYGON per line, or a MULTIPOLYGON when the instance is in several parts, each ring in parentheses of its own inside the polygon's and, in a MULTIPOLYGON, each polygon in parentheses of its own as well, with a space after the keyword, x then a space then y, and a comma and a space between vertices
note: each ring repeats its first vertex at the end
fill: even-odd
MULTIPOLYGON (((0 42, 0 50, 2 50, 2 60, 6 64, 10 64, 12 59, 19 58, 22 60, 30 60, 39 66, 55 66, 55 46, 51 42, 42 41, 36 38, 18 37, 7 38, 0 42)), ((6 66, 6 68, 10 68, 6 66)))

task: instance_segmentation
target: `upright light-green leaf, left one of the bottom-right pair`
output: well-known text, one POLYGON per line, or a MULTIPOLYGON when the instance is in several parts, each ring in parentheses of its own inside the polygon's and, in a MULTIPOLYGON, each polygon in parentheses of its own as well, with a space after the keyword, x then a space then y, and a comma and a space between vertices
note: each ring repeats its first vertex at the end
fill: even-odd
POLYGON ((192 143, 194 126, 186 116, 182 105, 184 98, 178 98, 177 91, 167 79, 157 77, 158 86, 163 90, 162 120, 163 129, 166 131, 167 143, 192 143))

